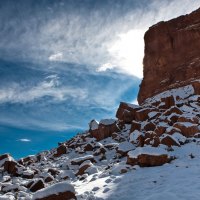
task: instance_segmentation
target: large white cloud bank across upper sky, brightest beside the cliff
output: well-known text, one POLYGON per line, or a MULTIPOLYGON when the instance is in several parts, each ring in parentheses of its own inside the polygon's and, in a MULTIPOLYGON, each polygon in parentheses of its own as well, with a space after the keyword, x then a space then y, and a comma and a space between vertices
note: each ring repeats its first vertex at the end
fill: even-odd
POLYGON ((142 77, 144 32, 154 23, 197 9, 200 0, 141 1, 140 7, 130 2, 113 1, 103 8, 85 11, 73 7, 73 12, 61 9, 69 6, 67 2, 49 5, 44 12, 36 11, 35 20, 27 18, 20 24, 14 19, 7 21, 1 32, 4 40, 0 41, 0 49, 19 57, 20 53, 14 53, 17 50, 25 59, 86 64, 94 71, 113 67, 142 77), (127 11, 122 12, 121 6, 126 6, 127 11), (10 27, 15 30, 12 34, 4 32, 10 27))

